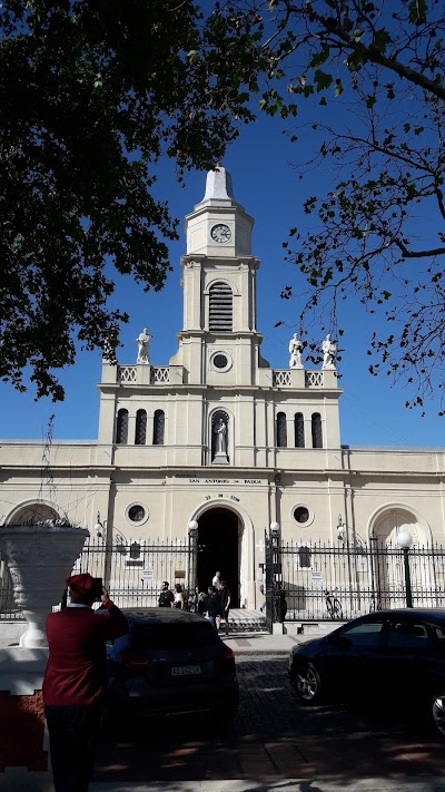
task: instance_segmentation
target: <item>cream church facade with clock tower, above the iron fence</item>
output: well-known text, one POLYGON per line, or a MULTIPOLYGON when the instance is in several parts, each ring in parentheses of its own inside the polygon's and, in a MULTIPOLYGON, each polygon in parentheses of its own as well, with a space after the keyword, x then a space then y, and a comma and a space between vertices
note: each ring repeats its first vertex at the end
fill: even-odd
POLYGON ((186 217, 177 353, 151 365, 145 329, 135 364, 105 361, 97 442, 51 443, 46 480, 41 442, 2 442, 3 522, 66 514, 110 548, 186 539, 191 524, 200 587, 221 570, 247 608, 263 599, 270 524, 296 548, 392 546, 400 530, 444 544, 444 450, 342 446, 329 336, 317 371, 296 335, 288 369, 261 356, 253 225, 229 174, 210 172, 186 217))

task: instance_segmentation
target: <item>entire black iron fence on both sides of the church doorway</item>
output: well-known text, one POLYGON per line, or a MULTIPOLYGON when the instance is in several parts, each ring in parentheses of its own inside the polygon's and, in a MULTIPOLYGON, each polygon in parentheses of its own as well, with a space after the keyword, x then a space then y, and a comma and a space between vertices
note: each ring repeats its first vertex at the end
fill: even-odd
MULTIPOLYGON (((398 547, 352 547, 319 542, 284 544, 266 534, 266 620, 347 620, 406 604, 406 568, 398 547)), ((414 607, 445 607, 445 548, 413 547, 407 553, 414 607)), ((107 545, 87 542, 73 573, 102 577, 119 607, 154 606, 162 580, 188 591, 196 585, 196 537, 107 545)), ((55 603, 56 605, 56 603, 55 603)), ((0 619, 20 619, 8 568, 0 558, 0 619)))

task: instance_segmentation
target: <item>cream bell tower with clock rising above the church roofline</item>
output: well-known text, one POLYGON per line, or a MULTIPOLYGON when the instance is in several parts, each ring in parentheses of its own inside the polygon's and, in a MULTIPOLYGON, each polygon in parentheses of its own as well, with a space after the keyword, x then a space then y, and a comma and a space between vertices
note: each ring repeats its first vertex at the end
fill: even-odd
POLYGON ((259 355, 256 330, 256 272, 251 255, 254 219, 235 201, 230 174, 207 174, 202 201, 186 217, 184 323, 179 351, 189 383, 253 385, 259 355))

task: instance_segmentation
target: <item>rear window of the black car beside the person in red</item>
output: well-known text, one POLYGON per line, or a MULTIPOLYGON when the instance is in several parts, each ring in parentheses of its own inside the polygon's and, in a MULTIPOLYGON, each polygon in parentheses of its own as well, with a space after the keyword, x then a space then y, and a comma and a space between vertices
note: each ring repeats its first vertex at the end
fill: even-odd
POLYGON ((130 626, 134 649, 194 649, 219 643, 215 628, 202 624, 148 624, 134 622, 130 626))

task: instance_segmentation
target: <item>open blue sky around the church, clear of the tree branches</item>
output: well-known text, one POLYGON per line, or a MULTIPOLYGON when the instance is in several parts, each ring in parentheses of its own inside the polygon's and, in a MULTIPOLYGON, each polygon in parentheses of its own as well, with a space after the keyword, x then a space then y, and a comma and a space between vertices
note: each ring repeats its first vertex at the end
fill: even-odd
MULTIPOLYGON (((308 195, 328 187, 336 176, 325 170, 312 172, 299 179, 295 163, 308 158, 312 148, 310 133, 298 143, 290 144, 283 136, 276 119, 264 118, 243 130, 240 138, 229 148, 224 160, 230 172, 236 199, 255 218, 254 254, 261 261, 258 272, 258 329, 264 334, 263 355, 273 368, 288 366, 288 341, 296 331, 301 305, 280 300, 286 284, 298 284, 297 270, 285 262, 281 246, 288 229, 304 226, 303 202, 308 195), (284 325, 274 327, 278 321, 284 325)), ((145 294, 130 278, 117 281, 113 304, 130 314, 123 327, 119 350, 120 363, 136 363, 136 338, 145 325, 152 334, 151 362, 168 364, 176 352, 176 334, 181 329, 182 293, 180 289, 180 256, 185 253, 184 216, 201 201, 205 174, 192 173, 181 187, 171 164, 162 164, 157 189, 170 203, 174 215, 180 218, 180 239, 171 243, 174 271, 160 293, 145 294)), ((304 287, 303 281, 300 287, 304 287)), ((379 321, 366 314, 356 301, 342 306, 342 324, 346 332, 342 339, 343 360, 339 366, 342 442, 350 446, 425 446, 442 447, 444 418, 437 417, 434 403, 427 404, 427 415, 404 407, 407 394, 402 385, 390 389, 388 378, 373 378, 367 372, 369 358, 367 343, 379 321)), ((319 332, 322 342, 324 333, 319 332)), ((315 339, 317 333, 314 333, 315 339)), ((30 389, 20 394, 1 384, 0 438, 40 439, 44 436, 51 413, 55 413, 53 436, 63 439, 95 439, 98 427, 101 359, 98 352, 79 352, 77 363, 61 372, 66 389, 63 403, 53 404, 48 399, 36 402, 30 389)), ((315 368, 312 363, 307 368, 315 368)))

